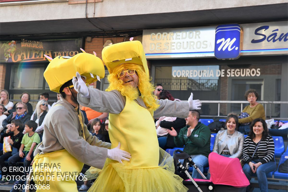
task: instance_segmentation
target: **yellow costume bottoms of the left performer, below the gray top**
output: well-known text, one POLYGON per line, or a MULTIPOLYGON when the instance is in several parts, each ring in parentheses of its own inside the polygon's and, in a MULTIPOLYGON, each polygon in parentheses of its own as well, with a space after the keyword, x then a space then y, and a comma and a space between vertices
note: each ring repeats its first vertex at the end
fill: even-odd
POLYGON ((37 154, 33 163, 36 192, 78 191, 75 179, 83 165, 66 149, 42 155, 37 154))

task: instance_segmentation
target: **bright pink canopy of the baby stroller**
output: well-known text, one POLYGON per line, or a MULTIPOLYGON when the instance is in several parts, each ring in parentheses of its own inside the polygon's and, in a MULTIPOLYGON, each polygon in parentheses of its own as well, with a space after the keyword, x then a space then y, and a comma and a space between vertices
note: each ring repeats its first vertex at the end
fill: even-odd
POLYGON ((247 187, 250 185, 238 158, 223 157, 218 153, 210 153, 208 157, 212 183, 247 187))

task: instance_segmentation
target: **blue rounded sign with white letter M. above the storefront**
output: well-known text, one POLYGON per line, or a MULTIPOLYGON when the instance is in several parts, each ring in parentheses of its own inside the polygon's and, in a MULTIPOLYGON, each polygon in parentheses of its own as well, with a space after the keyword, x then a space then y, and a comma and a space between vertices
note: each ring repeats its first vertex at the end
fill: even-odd
POLYGON ((238 24, 219 25, 215 31, 215 57, 237 59, 240 56, 241 27, 238 24))

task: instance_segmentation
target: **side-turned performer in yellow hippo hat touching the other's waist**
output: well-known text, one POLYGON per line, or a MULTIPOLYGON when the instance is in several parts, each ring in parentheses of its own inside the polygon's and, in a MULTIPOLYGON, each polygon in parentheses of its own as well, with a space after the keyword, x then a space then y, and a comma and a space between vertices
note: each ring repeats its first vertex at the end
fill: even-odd
POLYGON ((119 149, 120 144, 110 149, 110 143, 92 136, 79 111, 73 75, 78 71, 84 84, 100 80, 105 75, 102 60, 88 53, 58 56, 53 60, 46 57, 50 63, 44 77, 50 90, 61 96, 46 115, 43 141, 34 152, 33 176, 37 191, 78 191, 75 179, 84 163, 102 169, 106 158, 122 162, 121 159, 129 161, 125 157, 131 156, 119 149))

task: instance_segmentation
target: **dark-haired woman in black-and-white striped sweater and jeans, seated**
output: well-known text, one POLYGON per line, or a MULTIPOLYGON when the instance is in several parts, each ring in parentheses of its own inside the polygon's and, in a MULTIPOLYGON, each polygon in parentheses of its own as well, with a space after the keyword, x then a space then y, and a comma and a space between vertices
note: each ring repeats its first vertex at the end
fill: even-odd
MULTIPOLYGON (((251 179, 253 173, 257 174, 262 192, 268 191, 266 173, 276 169, 274 149, 274 141, 268 135, 266 122, 263 119, 254 119, 250 125, 249 135, 244 141, 243 158, 246 163, 243 166, 243 171, 248 180, 251 179), (256 147, 257 150, 255 151, 256 147), (253 155, 254 151, 255 154, 253 155)), ((246 191, 249 191, 249 186, 246 191)))

